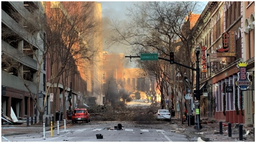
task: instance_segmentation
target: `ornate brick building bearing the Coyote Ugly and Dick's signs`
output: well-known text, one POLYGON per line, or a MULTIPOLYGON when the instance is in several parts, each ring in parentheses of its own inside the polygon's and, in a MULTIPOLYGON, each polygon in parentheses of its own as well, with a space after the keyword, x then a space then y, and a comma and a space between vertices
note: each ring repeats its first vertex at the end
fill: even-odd
POLYGON ((194 29, 201 47, 200 115, 254 124, 254 2, 208 2, 194 29), (236 85, 240 62, 252 81, 247 90, 236 85))

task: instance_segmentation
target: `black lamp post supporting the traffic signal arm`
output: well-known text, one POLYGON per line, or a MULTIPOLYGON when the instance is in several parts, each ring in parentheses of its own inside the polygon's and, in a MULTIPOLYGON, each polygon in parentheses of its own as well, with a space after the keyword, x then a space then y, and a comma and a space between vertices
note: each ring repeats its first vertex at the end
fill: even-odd
POLYGON ((202 129, 202 125, 200 123, 200 89, 199 89, 199 86, 200 86, 200 81, 199 81, 199 78, 200 78, 200 68, 199 68, 199 54, 200 54, 200 47, 197 46, 196 47, 196 100, 199 101, 199 105, 197 106, 197 108, 199 109, 199 114, 198 116, 196 116, 196 123, 195 123, 195 126, 194 128, 195 129, 202 129))

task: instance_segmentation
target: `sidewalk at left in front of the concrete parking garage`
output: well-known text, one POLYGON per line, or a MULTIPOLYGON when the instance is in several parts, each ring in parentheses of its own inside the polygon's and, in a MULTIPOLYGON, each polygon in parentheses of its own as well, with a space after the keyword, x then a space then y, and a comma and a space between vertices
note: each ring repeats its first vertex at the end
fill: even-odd
MULTIPOLYGON (((66 125, 70 123, 71 120, 66 120, 66 125)), ((27 122, 21 125, 1 125, 1 136, 11 136, 11 135, 19 135, 19 134, 30 134, 30 133, 41 133, 43 132, 43 124, 36 123, 36 124, 29 124, 27 126, 27 122)), ((64 121, 59 123, 59 127, 64 125, 64 121)), ((57 128, 57 122, 52 125, 52 128, 57 128)), ((51 126, 48 125, 45 127, 45 131, 49 131, 51 126)))

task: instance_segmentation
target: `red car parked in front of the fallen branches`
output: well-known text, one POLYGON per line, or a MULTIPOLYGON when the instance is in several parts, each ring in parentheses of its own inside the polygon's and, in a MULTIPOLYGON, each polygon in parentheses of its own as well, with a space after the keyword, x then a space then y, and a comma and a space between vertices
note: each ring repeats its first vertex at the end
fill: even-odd
POLYGON ((82 121, 90 122, 90 114, 87 109, 74 109, 71 117, 72 123, 82 121))

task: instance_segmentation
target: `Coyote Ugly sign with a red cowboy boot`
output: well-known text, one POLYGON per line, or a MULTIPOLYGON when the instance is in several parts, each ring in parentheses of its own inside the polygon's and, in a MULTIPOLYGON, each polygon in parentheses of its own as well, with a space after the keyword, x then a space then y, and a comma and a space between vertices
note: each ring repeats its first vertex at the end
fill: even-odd
POLYGON ((234 31, 222 34, 222 47, 217 50, 217 57, 235 57, 235 33, 234 31))

